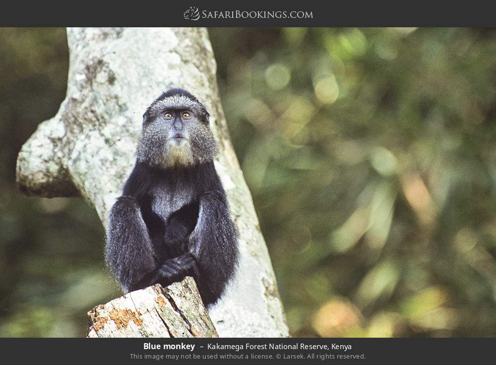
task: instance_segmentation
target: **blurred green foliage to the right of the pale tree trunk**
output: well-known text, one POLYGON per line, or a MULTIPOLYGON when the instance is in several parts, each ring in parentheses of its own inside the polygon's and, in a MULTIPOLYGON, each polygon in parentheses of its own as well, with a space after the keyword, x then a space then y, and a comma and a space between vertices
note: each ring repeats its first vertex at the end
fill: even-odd
POLYGON ((495 30, 210 35, 291 333, 495 336, 495 30))

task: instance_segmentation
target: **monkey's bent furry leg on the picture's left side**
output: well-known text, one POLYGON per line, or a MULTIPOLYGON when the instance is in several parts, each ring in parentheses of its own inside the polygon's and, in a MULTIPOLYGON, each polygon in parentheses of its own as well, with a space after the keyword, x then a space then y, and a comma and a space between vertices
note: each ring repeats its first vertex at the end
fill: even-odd
POLYGON ((105 257, 125 292, 144 287, 140 282, 156 267, 153 245, 133 197, 122 196, 112 207, 105 257))

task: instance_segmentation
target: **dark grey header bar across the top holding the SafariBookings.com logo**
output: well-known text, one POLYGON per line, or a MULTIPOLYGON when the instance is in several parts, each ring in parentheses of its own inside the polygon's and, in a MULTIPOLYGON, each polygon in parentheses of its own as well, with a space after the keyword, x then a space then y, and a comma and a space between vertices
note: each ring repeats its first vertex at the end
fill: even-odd
POLYGON ((12 3, 2 26, 496 26, 490 1, 139 1, 12 3), (17 7, 17 9, 15 8, 17 7))

